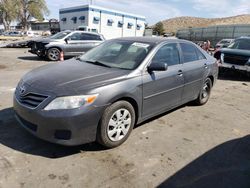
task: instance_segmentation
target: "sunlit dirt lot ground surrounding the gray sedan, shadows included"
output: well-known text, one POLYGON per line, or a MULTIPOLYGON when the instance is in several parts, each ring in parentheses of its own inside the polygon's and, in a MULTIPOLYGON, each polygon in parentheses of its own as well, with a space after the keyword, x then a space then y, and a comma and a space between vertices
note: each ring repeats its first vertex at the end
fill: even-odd
POLYGON ((17 82, 47 63, 27 49, 0 48, 0 188, 250 187, 249 79, 224 76, 208 104, 145 122, 119 148, 62 147, 13 117, 17 82))

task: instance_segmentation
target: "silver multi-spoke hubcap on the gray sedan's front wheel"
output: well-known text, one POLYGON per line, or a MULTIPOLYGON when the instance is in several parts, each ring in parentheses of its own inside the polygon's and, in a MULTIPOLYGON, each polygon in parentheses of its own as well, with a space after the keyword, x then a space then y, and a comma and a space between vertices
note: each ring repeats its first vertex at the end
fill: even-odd
POLYGON ((123 139, 131 126, 131 114, 126 109, 117 110, 110 118, 108 124, 108 138, 111 141, 120 141, 123 139))

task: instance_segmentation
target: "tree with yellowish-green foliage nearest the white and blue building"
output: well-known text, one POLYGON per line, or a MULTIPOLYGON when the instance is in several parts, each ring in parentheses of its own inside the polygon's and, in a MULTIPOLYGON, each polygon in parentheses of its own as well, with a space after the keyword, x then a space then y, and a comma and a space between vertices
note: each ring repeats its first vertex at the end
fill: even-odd
POLYGON ((17 0, 19 21, 24 30, 28 29, 28 20, 36 18, 42 20, 44 15, 49 14, 45 0, 17 0))

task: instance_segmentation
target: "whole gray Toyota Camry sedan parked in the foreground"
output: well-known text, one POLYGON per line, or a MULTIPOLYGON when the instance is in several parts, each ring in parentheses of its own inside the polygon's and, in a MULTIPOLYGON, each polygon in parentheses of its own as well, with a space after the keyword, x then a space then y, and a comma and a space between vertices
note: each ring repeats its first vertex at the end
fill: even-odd
POLYGON ((79 58, 27 73, 14 95, 20 124, 62 145, 112 148, 135 124, 189 101, 205 104, 216 59, 192 42, 158 37, 106 41, 79 58))

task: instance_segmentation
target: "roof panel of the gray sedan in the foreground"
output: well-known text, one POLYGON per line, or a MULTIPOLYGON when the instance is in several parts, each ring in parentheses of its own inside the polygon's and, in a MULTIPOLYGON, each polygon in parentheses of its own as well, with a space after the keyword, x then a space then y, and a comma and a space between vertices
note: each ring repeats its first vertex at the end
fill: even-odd
POLYGON ((123 40, 123 41, 134 41, 134 42, 145 42, 151 44, 160 44, 162 42, 188 42, 190 41, 181 40, 181 39, 173 39, 173 38, 166 38, 166 37, 122 37, 116 38, 114 40, 123 40))

